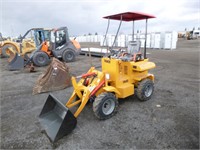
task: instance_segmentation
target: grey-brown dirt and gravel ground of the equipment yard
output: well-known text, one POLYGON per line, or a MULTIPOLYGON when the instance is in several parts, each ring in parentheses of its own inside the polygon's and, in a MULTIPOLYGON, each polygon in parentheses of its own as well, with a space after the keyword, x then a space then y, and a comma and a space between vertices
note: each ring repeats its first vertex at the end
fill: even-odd
MULTIPOLYGON (((200 40, 179 40, 176 50, 148 50, 157 67, 152 99, 120 100, 118 113, 100 121, 85 107, 75 130, 54 145, 41 133, 38 115, 49 93, 32 95, 37 77, 27 70, 8 71, 0 59, 1 149, 199 149, 200 40), (161 107, 157 107, 160 105, 161 107)), ((100 58, 81 55, 68 63, 73 75, 100 66, 100 58)), ((72 88, 52 92, 62 103, 72 88)))

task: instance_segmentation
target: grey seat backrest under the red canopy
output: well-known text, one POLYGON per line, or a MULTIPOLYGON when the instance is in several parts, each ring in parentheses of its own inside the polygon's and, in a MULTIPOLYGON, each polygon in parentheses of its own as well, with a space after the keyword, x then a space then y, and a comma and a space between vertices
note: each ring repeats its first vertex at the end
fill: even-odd
POLYGON ((127 52, 131 55, 141 53, 140 45, 140 41, 129 41, 127 52))

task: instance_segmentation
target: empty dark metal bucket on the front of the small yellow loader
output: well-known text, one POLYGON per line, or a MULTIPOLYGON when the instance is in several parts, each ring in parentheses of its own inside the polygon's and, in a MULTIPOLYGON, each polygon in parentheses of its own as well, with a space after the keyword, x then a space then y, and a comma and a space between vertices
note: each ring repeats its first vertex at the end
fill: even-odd
POLYGON ((77 124, 71 111, 51 94, 39 115, 39 122, 51 142, 72 132, 77 124))

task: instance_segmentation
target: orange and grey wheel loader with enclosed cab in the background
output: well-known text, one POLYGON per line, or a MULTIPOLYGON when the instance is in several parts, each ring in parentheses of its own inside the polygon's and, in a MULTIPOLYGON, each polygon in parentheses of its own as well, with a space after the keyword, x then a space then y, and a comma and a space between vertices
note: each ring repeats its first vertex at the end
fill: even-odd
POLYGON ((9 70, 18 70, 31 63, 38 67, 46 66, 51 62, 51 56, 64 62, 75 61, 81 47, 77 41, 69 39, 67 27, 52 29, 48 34, 48 41, 43 40, 29 57, 25 55, 22 58, 16 53, 9 63, 9 70))

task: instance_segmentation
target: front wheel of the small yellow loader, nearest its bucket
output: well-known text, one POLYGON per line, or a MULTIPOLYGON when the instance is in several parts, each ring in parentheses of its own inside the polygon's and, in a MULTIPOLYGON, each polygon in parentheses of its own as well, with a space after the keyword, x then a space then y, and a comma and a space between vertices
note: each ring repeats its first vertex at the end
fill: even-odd
POLYGON ((93 111, 97 118, 101 120, 112 117, 118 108, 118 100, 113 93, 101 93, 93 102, 93 111))

